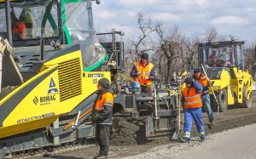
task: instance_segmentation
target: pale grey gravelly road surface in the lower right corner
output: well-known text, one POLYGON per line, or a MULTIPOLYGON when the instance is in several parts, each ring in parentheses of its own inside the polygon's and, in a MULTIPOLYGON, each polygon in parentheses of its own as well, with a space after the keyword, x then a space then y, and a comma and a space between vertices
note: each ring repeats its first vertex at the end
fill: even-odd
POLYGON ((188 144, 156 146, 148 152, 125 159, 147 158, 256 158, 256 124, 207 136, 203 143, 193 139, 188 144))

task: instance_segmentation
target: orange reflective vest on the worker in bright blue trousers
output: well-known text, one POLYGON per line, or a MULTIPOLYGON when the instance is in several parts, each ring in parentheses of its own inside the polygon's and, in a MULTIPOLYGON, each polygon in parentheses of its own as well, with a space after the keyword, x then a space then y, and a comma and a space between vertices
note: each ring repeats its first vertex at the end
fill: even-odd
POLYGON ((200 108, 202 106, 201 103, 201 94, 197 94, 195 92, 195 88, 185 88, 183 90, 183 97, 184 97, 184 109, 189 108, 200 108))

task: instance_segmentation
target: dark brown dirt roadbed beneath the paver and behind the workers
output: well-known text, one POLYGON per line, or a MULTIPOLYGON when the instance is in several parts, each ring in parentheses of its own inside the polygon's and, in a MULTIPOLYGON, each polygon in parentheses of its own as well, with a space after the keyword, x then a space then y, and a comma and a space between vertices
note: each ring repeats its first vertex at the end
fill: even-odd
MULTIPOLYGON (((182 117, 183 119, 183 117, 182 117)), ((256 95, 253 96, 253 106, 250 109, 239 108, 239 109, 230 109, 224 113, 215 114, 216 126, 209 128, 207 127, 207 114, 204 113, 204 121, 206 123, 206 133, 218 133, 223 132, 228 129, 243 127, 245 125, 250 125, 256 123, 256 95)), ((178 145, 175 141, 170 141, 170 139, 160 139, 154 141, 145 141, 142 136, 137 134, 137 131, 141 131, 140 128, 131 125, 125 126, 126 130, 135 130, 132 134, 132 131, 126 131, 120 138, 120 145, 112 145, 110 148, 109 158, 122 158, 125 156, 134 156, 151 150, 155 146, 164 145, 164 146, 174 146, 178 145), (127 133, 128 132, 128 133, 127 133), (129 136, 130 135, 130 136, 129 136), (144 142, 143 142, 144 140, 144 142)), ((196 136, 197 133, 195 128, 193 130, 193 135, 196 136)), ((115 138, 116 139, 116 138, 115 138)), ((98 147, 92 147, 85 150, 76 150, 68 153, 63 153, 58 156, 49 156, 44 158, 92 158, 96 155, 98 147)))

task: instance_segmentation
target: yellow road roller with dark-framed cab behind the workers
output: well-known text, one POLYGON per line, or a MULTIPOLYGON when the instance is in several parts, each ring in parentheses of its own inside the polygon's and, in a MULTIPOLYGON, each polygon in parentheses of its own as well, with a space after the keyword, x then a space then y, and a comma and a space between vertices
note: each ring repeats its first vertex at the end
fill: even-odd
MULTIPOLYGON (((244 69, 243 44, 236 41, 196 44, 199 67, 205 68, 213 83, 220 111, 226 111, 230 105, 247 108, 252 105, 253 78, 244 69)), ((216 110, 218 105, 213 98, 212 103, 216 110)))

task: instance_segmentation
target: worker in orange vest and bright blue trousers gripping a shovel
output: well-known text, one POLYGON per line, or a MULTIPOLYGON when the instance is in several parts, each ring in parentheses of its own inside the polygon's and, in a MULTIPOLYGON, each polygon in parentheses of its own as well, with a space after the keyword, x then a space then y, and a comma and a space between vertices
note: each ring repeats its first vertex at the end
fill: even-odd
POLYGON ((183 90, 182 102, 184 110, 184 135, 181 142, 189 142, 193 119, 201 142, 205 140, 205 128, 201 113, 201 85, 192 77, 185 79, 186 88, 183 90))

